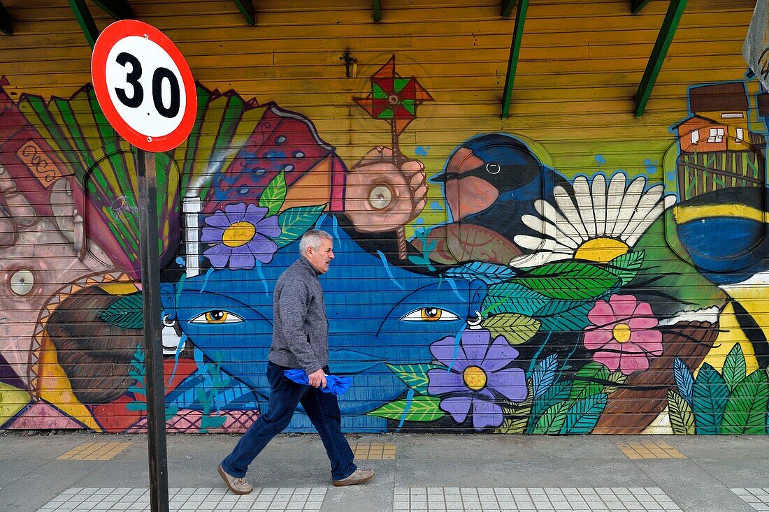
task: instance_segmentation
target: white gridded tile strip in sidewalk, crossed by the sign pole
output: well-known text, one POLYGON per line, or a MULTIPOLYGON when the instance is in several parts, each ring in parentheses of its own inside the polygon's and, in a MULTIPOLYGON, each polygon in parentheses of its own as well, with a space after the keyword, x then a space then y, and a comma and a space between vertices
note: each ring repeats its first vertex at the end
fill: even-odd
MULTIPOLYGON (((222 487, 169 489, 171 512, 318 512, 325 487, 265 487, 235 496, 222 487)), ((43 505, 38 512, 145 512, 150 510, 149 490, 114 487, 71 487, 43 505)))

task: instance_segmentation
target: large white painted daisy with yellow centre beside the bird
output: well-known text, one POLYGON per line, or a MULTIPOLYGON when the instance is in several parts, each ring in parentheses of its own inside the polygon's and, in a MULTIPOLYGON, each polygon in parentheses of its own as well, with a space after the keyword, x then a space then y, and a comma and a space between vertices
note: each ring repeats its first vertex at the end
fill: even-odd
POLYGON ((555 204, 539 199, 534 208, 540 217, 522 217, 538 234, 515 236, 516 244, 533 252, 514 258, 511 266, 534 267, 567 259, 608 263, 627 253, 675 201, 674 196, 664 195, 663 185, 647 188, 643 176, 628 184, 621 172, 608 183, 604 175, 596 175, 592 182, 578 176, 573 188, 570 193, 555 187, 555 204))

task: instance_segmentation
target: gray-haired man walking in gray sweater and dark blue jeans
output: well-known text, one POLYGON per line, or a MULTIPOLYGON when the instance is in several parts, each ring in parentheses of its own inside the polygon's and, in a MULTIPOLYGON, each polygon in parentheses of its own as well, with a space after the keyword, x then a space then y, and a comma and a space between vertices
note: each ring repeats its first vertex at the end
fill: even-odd
POLYGON ((360 470, 341 433, 337 398, 324 393, 328 373, 328 318, 318 275, 328 271, 334 259, 333 239, 325 231, 307 231, 299 242, 300 258, 291 264, 275 284, 272 344, 268 355, 267 379, 270 398, 267 411, 243 434, 218 471, 235 494, 248 494, 254 486, 245 481, 248 465, 270 440, 288 427, 298 404, 305 407, 321 436, 331 480, 337 486, 364 484, 374 477, 372 470, 360 470), (283 372, 302 369, 309 385, 296 384, 283 372))

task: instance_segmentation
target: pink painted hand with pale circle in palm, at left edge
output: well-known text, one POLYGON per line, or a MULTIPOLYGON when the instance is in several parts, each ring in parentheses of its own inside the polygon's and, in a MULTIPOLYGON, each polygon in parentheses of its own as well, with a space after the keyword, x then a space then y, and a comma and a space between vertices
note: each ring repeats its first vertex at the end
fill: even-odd
POLYGON ((51 185, 52 217, 42 217, 0 166, 0 352, 28 382, 35 325, 67 283, 112 270, 95 244, 84 247, 83 218, 65 178, 51 185))

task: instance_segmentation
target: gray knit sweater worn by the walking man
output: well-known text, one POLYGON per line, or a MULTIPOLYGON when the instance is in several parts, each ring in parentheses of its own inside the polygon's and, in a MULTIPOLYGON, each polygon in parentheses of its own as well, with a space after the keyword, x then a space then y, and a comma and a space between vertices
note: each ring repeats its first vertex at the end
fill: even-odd
POLYGON ((300 257, 275 284, 268 359, 311 374, 328 364, 328 318, 318 272, 300 257))

